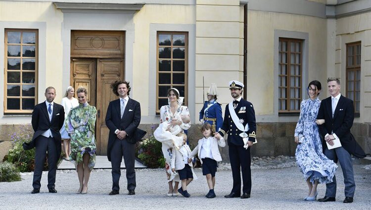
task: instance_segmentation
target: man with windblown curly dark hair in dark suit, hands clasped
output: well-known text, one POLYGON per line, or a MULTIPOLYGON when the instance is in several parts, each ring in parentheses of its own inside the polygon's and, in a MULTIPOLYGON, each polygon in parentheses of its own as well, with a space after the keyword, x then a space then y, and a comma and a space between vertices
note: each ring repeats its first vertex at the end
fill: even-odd
POLYGON ((107 156, 112 165, 112 191, 119 194, 120 165, 124 157, 129 195, 135 195, 135 131, 140 123, 140 104, 129 98, 129 82, 116 81, 111 84, 112 91, 120 96, 111 101, 107 108, 106 125, 109 128, 107 156))

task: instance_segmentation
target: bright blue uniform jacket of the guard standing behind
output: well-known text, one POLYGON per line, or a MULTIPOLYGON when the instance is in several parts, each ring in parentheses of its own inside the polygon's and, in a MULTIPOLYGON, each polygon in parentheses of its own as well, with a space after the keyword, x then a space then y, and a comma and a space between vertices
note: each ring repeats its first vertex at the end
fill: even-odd
POLYGON ((204 123, 215 125, 215 130, 219 131, 219 128, 222 127, 223 124, 222 106, 217 101, 211 102, 211 106, 207 109, 208 105, 209 101, 205 101, 200 111, 200 120, 204 119, 204 123))

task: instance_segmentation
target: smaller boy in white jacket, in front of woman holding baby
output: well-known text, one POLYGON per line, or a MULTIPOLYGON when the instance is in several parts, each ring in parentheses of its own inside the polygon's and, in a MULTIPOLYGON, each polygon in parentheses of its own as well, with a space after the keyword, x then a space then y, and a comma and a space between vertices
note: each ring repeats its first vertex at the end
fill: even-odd
POLYGON ((192 159, 190 157, 190 148, 186 143, 186 138, 183 140, 183 146, 179 150, 172 150, 171 170, 177 170, 182 186, 178 192, 184 197, 188 198, 190 194, 187 192, 187 185, 194 179, 197 179, 196 174, 193 172, 192 159))

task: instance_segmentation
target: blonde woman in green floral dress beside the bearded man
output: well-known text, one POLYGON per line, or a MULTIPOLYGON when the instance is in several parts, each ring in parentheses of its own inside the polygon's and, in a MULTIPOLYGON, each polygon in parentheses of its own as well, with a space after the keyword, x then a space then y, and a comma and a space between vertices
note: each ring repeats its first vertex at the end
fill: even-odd
POLYGON ((86 194, 90 172, 95 165, 96 108, 88 104, 88 90, 85 87, 79 87, 76 92, 79 106, 70 111, 65 127, 71 136, 70 161, 75 164, 80 181, 77 194, 86 194))

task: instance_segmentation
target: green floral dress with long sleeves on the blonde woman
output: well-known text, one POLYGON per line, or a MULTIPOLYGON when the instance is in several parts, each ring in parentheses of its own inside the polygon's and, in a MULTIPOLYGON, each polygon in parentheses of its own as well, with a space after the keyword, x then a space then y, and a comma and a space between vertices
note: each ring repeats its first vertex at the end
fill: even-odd
POLYGON ((70 161, 75 164, 83 163, 84 153, 90 155, 89 169, 95 166, 95 119, 96 108, 88 102, 73 108, 65 121, 65 128, 71 134, 70 161))

